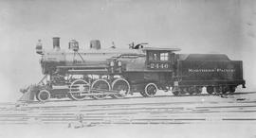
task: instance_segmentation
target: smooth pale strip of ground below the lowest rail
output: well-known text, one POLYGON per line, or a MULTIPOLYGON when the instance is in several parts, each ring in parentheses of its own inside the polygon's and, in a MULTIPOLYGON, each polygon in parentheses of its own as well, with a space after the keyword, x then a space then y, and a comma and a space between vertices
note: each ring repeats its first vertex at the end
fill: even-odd
POLYGON ((0 126, 1 138, 255 138, 255 124, 0 126))

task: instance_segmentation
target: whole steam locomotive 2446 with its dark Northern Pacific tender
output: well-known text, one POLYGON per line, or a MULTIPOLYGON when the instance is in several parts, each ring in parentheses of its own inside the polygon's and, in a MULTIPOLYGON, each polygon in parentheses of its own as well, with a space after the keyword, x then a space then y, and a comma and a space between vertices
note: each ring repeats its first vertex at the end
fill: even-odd
POLYGON ((178 48, 147 47, 146 43, 131 43, 129 49, 101 49, 99 40, 91 41, 87 50, 72 40, 68 49, 61 49, 57 37, 51 50, 37 44, 45 77, 30 89, 32 98, 83 100, 134 93, 148 97, 158 90, 199 95, 203 87, 211 95, 234 93, 239 85, 246 87, 242 61, 229 60, 223 54, 177 54, 178 48))

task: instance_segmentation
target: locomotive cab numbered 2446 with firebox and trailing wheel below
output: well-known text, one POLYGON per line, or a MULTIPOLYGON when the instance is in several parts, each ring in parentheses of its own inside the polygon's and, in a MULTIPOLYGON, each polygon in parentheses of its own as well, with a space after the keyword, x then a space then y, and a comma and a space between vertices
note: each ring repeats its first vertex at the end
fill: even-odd
MULTIPOLYGON (((137 72, 126 72, 135 91, 143 96, 154 96, 155 91, 149 92, 148 86, 158 90, 166 90, 171 87, 174 73, 175 54, 178 48, 153 48, 144 47, 143 70, 137 72)), ((142 63, 142 62, 141 62, 142 63)))

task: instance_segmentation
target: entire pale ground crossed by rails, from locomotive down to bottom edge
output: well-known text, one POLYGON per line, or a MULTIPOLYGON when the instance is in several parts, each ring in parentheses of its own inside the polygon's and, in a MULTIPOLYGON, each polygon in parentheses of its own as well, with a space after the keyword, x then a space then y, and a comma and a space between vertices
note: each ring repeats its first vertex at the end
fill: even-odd
MULTIPOLYGON (((4 117, 7 119, 19 118, 19 116, 17 117, 15 115, 23 114, 30 115, 31 117, 27 120, 26 125, 0 123, 0 138, 256 138, 255 103, 255 93, 247 95, 225 95, 223 97, 203 95, 50 101, 46 103, 21 104, 19 106, 15 103, 1 103, 0 120, 4 119, 4 117), (46 114, 54 116, 56 113, 58 115, 66 115, 65 113, 74 115, 76 113, 103 113, 100 117, 109 119, 107 117, 110 117, 110 113, 120 112, 117 109, 126 109, 124 112, 137 112, 134 116, 118 114, 118 116, 131 117, 132 119, 159 117, 174 119, 174 121, 171 120, 169 124, 100 123, 96 125, 83 122, 84 126, 77 127, 76 129, 76 127, 73 127, 73 124, 70 127, 70 124, 66 122, 61 124, 46 124, 40 120, 49 117, 46 114), (88 112, 90 110, 92 112, 88 112), (10 115, 6 116, 6 114, 12 116, 9 117, 10 115), (180 121, 178 120, 179 118, 206 118, 206 120, 180 121), (248 120, 230 121, 223 120, 223 118, 246 118, 248 120), (179 124, 182 122, 186 123, 179 124)), ((97 118, 99 114, 95 116, 91 114, 90 116, 97 118)))

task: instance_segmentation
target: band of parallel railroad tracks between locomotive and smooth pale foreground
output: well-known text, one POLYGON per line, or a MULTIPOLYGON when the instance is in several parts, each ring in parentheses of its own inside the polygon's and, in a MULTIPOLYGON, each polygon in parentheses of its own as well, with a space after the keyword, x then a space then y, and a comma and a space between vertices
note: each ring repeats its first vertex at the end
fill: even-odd
POLYGON ((212 95, 203 97, 158 96, 33 102, 21 106, 7 104, 6 108, 5 105, 0 106, 0 125, 256 123, 256 100, 238 101, 212 95))

